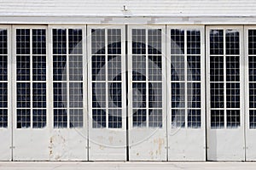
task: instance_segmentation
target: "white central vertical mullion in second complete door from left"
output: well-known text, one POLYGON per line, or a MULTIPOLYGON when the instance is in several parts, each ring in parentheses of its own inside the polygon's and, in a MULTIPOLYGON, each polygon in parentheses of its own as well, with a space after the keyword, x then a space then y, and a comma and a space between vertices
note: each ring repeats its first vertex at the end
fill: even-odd
POLYGON ((68 47, 68 28, 66 28, 66 59, 67 59, 67 77, 66 77, 66 82, 67 82, 67 128, 69 128, 69 47, 68 47))

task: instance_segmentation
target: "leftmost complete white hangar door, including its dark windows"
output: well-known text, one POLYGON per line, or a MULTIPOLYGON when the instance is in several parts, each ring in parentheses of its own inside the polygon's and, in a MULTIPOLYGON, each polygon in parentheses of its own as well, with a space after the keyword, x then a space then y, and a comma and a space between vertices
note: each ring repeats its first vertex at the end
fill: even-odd
POLYGON ((47 27, 13 29, 13 159, 49 160, 47 27))

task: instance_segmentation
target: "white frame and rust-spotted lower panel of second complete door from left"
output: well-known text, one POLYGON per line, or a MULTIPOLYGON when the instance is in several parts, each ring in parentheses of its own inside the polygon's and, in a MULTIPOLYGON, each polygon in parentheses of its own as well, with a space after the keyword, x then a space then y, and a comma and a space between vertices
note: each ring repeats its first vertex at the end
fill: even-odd
MULTIPOLYGON (((50 105, 50 127, 49 127, 49 160, 50 161, 88 161, 88 132, 87 132, 87 96, 84 95, 87 91, 87 60, 86 60, 86 28, 85 26, 49 26, 49 69, 51 74, 49 77, 49 98, 50 105), (54 111, 53 111, 53 51, 52 51, 52 30, 53 29, 82 29, 83 34, 83 102, 84 102, 84 124, 83 127, 69 127, 69 113, 67 114, 67 127, 54 127, 54 111)), ((68 38, 67 38, 68 40, 68 38)), ((68 46, 67 46, 68 47, 68 46)), ((68 50, 67 50, 68 53, 68 50)), ((73 54, 67 54, 73 55, 73 54)), ((80 54, 79 54, 80 55, 80 54)), ((67 58, 68 59, 68 58, 67 58)), ((68 61, 67 61, 68 63, 68 61)), ((68 65, 68 64, 67 64, 68 65)), ((68 69, 67 69, 68 72, 68 69)), ((68 82, 68 81, 67 81, 68 82)), ((67 91, 69 88, 67 86, 67 91)), ((69 98, 69 97, 67 97, 69 98)), ((67 100, 69 102, 69 99, 67 100)), ((69 105, 69 104, 68 104, 69 105)))

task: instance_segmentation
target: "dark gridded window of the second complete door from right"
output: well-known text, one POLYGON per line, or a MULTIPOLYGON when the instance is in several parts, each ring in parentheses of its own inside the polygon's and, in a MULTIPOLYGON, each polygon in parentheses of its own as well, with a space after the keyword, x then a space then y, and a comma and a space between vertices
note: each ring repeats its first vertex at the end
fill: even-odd
POLYGON ((200 54, 200 30, 171 29, 172 128, 201 128, 200 54))

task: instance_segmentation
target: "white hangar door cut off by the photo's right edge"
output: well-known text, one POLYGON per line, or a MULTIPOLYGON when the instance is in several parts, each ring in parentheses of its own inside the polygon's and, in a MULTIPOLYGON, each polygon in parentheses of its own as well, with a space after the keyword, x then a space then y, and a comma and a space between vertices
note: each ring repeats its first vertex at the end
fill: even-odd
POLYGON ((245 27, 246 161, 256 161, 256 26, 245 27))

